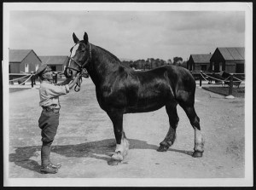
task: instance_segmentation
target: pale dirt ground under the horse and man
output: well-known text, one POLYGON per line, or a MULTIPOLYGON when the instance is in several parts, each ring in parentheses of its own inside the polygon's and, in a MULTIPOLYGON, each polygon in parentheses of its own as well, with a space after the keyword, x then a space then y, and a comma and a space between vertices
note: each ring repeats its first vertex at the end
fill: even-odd
POLYGON ((245 176, 244 99, 224 99, 196 89, 195 110, 205 138, 202 158, 192 158, 194 130, 181 107, 177 140, 156 151, 169 129, 165 107, 126 114, 130 151, 108 165, 115 148, 113 126, 96 101, 95 86, 84 79, 79 92, 61 96, 60 125, 50 155, 61 163, 55 175, 39 172, 41 137, 38 89, 9 93, 9 178, 243 178, 245 176))

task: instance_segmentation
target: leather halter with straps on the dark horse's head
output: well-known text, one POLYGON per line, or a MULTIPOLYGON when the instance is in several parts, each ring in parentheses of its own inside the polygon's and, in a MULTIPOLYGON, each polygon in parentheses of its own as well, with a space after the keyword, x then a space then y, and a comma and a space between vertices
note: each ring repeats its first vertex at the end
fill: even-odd
MULTIPOLYGON (((75 45, 77 45, 77 44, 78 44, 78 43, 76 43, 75 45)), ((74 45, 74 46, 75 46, 75 45, 74 45)), ((73 46, 73 47, 74 47, 74 46, 73 46)), ((73 49, 73 48, 72 48, 72 49, 73 49)), ((70 55, 69 55, 69 57, 68 57, 68 62, 69 62, 69 60, 73 60, 73 62, 79 66, 79 70, 78 70, 78 69, 75 69, 75 68, 72 68, 72 67, 70 67, 69 65, 66 66, 65 69, 68 68, 68 69, 74 70, 74 71, 76 71, 76 72, 81 72, 81 75, 79 76, 78 82, 76 83, 76 86, 75 86, 75 88, 74 88, 74 90, 75 90, 76 92, 78 92, 78 91, 80 90, 81 83, 83 82, 82 77, 84 77, 84 78, 88 78, 88 77, 89 77, 89 74, 88 74, 88 72, 86 71, 86 69, 84 68, 84 66, 86 66, 86 65, 90 62, 90 60, 91 60, 91 47, 90 47, 90 43, 89 43, 89 57, 88 57, 87 60, 84 61, 84 63, 83 63, 82 65, 81 65, 77 60, 74 60, 74 59, 71 57, 71 54, 72 54, 72 53, 70 53, 70 55)))

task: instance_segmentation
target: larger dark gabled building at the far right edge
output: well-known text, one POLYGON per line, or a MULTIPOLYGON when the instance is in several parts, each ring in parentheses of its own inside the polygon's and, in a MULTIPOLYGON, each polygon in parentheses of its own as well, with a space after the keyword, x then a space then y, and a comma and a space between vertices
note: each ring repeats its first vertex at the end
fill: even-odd
POLYGON ((214 72, 244 73, 245 48, 217 48, 210 60, 214 72))

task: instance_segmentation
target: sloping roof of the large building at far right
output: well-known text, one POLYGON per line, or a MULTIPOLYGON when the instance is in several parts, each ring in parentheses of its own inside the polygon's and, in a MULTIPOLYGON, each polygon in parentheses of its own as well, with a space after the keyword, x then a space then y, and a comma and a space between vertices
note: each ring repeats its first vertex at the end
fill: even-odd
POLYGON ((223 55, 224 60, 245 60, 244 51, 245 48, 235 47, 235 48, 217 48, 221 55, 223 55))

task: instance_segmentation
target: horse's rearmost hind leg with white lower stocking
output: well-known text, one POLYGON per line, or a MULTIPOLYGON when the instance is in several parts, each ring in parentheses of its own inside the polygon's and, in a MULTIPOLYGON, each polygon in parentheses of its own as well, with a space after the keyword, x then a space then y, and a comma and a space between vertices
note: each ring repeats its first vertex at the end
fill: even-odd
POLYGON ((195 107, 184 106, 184 105, 181 105, 181 107, 183 107, 183 110, 187 113, 190 124, 195 130, 195 147, 194 147, 194 153, 192 156, 202 157, 202 153, 204 152, 204 139, 201 134, 200 119, 195 113, 195 107))

